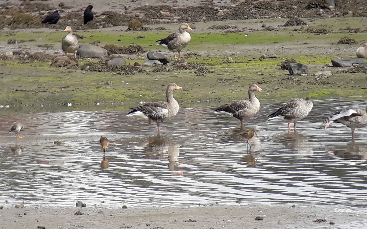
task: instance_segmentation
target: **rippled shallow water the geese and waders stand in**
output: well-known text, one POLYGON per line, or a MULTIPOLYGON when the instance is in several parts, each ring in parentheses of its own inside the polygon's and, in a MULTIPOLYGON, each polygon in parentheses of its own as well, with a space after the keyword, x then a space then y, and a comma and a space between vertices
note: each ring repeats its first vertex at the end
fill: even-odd
POLYGON ((367 129, 321 121, 365 101, 316 101, 297 124, 267 121, 280 103, 262 106, 251 150, 239 121, 215 108, 180 109, 148 125, 123 112, 62 112, 3 117, 3 130, 22 121, 22 139, 0 136, 0 196, 9 204, 192 206, 195 204, 318 203, 367 206, 367 129), (99 137, 109 138, 101 169, 99 137), (61 141, 55 145, 54 140, 61 141), (10 147, 13 147, 12 149, 10 147))

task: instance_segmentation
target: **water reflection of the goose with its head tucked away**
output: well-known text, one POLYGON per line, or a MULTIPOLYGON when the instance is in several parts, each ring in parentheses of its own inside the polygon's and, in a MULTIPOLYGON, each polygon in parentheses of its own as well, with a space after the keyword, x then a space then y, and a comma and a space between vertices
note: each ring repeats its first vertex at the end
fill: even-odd
POLYGON ((292 153, 299 154, 312 154, 312 143, 301 134, 297 132, 292 134, 284 134, 284 145, 290 147, 292 149, 292 153))

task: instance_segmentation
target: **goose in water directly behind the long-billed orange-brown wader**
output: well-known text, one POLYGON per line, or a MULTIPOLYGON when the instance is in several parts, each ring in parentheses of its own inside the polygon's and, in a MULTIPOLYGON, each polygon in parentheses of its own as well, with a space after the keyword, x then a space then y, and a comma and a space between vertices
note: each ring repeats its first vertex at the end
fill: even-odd
POLYGON ((214 110, 214 113, 225 112, 232 115, 241 121, 243 126, 243 119, 250 119, 254 117, 260 110, 260 102, 255 96, 255 91, 262 91, 256 84, 251 84, 248 87, 248 98, 250 100, 240 100, 230 104, 225 104, 214 110))

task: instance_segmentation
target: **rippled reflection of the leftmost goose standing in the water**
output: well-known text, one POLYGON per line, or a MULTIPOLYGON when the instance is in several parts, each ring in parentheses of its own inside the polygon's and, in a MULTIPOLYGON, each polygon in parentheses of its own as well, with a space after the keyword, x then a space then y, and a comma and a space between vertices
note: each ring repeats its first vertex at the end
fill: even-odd
MULTIPOLYGON (((169 137, 149 137, 148 145, 143 149, 146 159, 168 159, 168 169, 170 171, 180 170, 182 166, 178 163, 180 146, 169 137)), ((179 172, 178 175, 183 175, 179 172)))

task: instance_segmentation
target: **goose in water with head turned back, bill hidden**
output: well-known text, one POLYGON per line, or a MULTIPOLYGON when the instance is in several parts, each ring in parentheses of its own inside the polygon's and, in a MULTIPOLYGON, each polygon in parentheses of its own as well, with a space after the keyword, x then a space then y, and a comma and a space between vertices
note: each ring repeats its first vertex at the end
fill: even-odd
POLYGON ((266 119, 278 119, 288 122, 288 134, 291 132, 291 123, 294 123, 294 132, 297 132, 297 121, 306 117, 312 110, 313 103, 310 98, 295 98, 284 104, 276 112, 270 114, 266 119))

